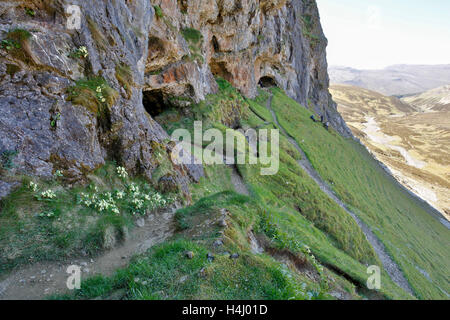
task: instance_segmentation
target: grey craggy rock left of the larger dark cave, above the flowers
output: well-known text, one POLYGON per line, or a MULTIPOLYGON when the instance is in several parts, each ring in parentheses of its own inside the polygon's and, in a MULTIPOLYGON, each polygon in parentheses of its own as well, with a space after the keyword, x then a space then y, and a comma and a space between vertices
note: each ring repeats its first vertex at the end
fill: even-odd
MULTIPOLYGON (((155 152, 162 148, 167 153, 164 159, 170 159, 168 135, 142 102, 153 7, 146 0, 78 4, 82 13, 78 30, 67 28, 69 1, 0 4, 1 38, 15 40, 8 38, 11 30, 30 35, 16 40, 16 48, 3 46, 0 51, 0 152, 15 152, 7 175, 48 178, 63 170, 67 179, 79 180, 106 160, 116 160, 151 179, 162 165, 155 152), (88 52, 85 57, 76 54, 82 47, 88 52), (21 50, 25 53, 19 54, 21 50), (68 101, 76 80, 92 77, 103 78, 114 97, 107 102, 106 113, 68 101)), ((103 105, 95 101, 95 90, 93 97, 94 105, 103 105)), ((189 176, 202 175, 201 168, 191 171, 173 165, 161 179, 188 194, 189 176)))

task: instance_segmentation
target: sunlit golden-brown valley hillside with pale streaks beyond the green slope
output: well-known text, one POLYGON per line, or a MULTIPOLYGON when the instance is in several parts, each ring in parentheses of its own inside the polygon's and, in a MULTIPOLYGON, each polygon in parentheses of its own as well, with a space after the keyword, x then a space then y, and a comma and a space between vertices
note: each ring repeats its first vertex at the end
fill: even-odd
POLYGON ((333 99, 347 124, 395 177, 450 218, 450 113, 431 90, 399 100, 366 89, 334 85, 333 99), (414 105, 407 102, 415 101, 414 105))

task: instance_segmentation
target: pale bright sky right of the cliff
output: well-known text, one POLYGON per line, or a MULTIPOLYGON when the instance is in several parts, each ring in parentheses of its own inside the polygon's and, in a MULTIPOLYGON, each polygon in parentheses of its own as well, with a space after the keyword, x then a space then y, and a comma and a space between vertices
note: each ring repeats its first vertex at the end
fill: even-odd
POLYGON ((450 0, 317 0, 328 64, 450 64, 450 0))

